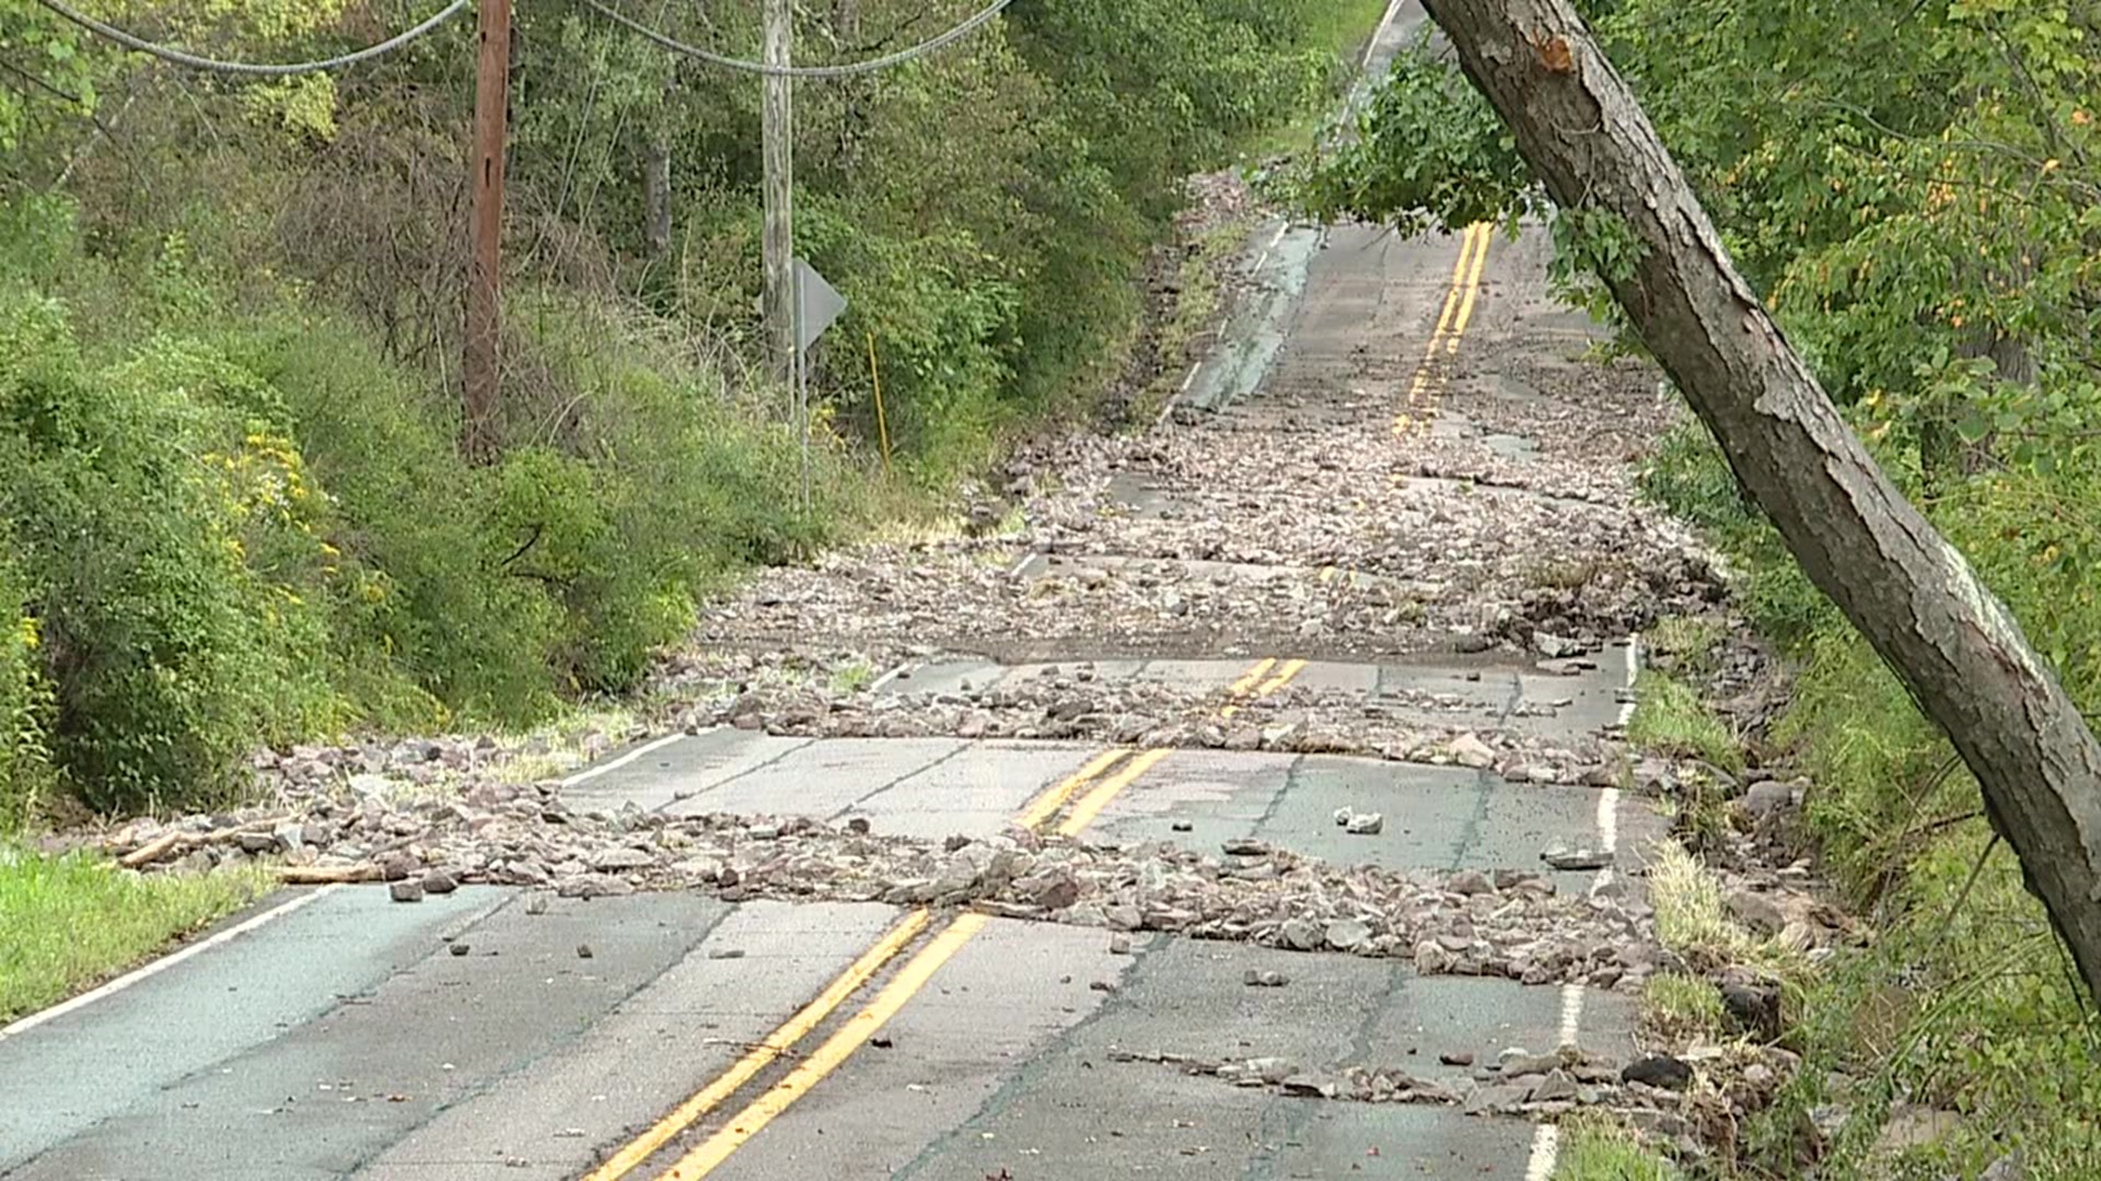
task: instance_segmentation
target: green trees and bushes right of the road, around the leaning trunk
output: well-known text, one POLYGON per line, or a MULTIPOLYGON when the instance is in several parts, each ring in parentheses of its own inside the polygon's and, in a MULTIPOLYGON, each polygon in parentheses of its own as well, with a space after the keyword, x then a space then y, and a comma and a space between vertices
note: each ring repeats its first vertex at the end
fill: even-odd
MULTIPOLYGON (((2095 717, 2101 4, 1578 6, 1855 433, 2095 717)), ((1410 59, 1303 195, 1458 225, 1530 208, 1527 187, 1488 105, 1448 65, 1410 59)), ((1586 212, 1557 214, 1555 235, 1563 290, 1618 322, 1597 275, 1626 240, 1586 212)), ((1761 754, 1813 784, 1794 836, 1872 923, 1798 977, 1803 1065, 1727 1168, 2090 1177, 2101 1019, 1977 784, 1746 506, 1704 427, 1660 441, 1645 490, 1723 551, 1738 605, 1786 658, 1792 700, 1761 754)), ((1689 639, 1687 624, 1658 637, 1689 639)), ((1698 668, 1681 677, 1643 685, 1635 738, 1729 769, 1717 754, 1735 735, 1702 717, 1698 668)), ((1693 899, 1679 937, 1727 944, 1702 918, 1714 899, 1693 899)), ((1677 983, 1649 1000, 1704 1023, 1677 983)))

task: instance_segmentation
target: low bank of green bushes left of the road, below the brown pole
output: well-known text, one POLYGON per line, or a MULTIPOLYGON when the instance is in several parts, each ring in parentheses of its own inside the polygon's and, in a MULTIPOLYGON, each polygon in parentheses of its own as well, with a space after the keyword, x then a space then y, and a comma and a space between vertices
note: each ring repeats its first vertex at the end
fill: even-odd
POLYGON ((78 261, 46 279, 162 330, 90 357, 67 301, 11 269, 8 817, 53 773, 95 807, 195 805, 258 742, 632 689, 723 578, 849 517, 836 454, 805 511, 788 431, 584 301, 523 301, 542 389, 519 382, 500 460, 471 467, 452 399, 349 319, 229 311, 168 256, 126 305, 67 235, 38 242, 78 261))

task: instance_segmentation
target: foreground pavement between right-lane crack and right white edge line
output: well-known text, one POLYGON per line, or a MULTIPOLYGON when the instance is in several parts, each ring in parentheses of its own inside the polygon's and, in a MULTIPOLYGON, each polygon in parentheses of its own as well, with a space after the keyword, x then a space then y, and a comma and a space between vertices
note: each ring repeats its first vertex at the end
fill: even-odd
POLYGON ((1420 1055, 1406 1051, 1427 1044, 1429 1032, 1452 1044, 1502 1047, 1553 1040, 1559 1030, 1557 988, 1441 983, 1393 962, 1156 937, 1139 948, 1137 969, 1090 1021, 1011 1072, 971 1120, 897 1177, 981 1181, 1002 1168, 1017 1179, 1399 1177, 1403 1162, 1515 1162, 1515 1179, 1532 1139, 1517 1120, 1288 1099, 1174 1065, 1118 1059, 1118 1051, 1275 1055, 1309 1072, 1387 1063, 1416 1070, 1420 1055), (1282 971, 1290 983, 1246 988, 1248 969, 1282 971), (1370 1156, 1374 1147, 1378 1156, 1370 1156))

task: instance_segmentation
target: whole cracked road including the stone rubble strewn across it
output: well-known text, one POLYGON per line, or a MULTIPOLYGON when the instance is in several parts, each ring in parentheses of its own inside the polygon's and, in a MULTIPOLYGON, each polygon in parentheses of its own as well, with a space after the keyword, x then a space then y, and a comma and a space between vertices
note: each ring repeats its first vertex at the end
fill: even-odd
POLYGON ((338 885, 0 1032, 0 1177, 1544 1177, 1660 1095, 1630 637, 1719 597, 1546 250, 1271 223, 1153 431, 769 572, 592 767, 109 834, 338 885))

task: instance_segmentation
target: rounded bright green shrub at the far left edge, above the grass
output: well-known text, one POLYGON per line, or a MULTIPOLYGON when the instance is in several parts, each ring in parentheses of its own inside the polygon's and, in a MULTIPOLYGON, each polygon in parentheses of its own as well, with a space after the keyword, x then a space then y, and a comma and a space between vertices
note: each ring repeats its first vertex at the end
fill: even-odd
POLYGON ((164 347, 88 372, 57 303, 0 313, 0 519, 13 523, 53 752, 97 807, 223 786, 256 735, 326 710, 296 672, 311 605, 244 561, 242 506, 200 456, 231 422, 181 382, 231 378, 164 347))

